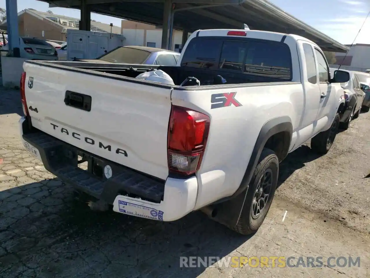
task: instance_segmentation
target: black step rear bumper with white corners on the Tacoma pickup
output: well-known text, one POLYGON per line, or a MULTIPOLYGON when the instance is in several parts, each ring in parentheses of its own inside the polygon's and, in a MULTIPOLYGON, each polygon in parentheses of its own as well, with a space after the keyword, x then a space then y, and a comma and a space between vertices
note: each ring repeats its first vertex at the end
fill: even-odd
POLYGON ((104 203, 113 205, 115 212, 159 221, 174 221, 195 207, 198 191, 195 176, 162 181, 87 153, 34 129, 26 117, 19 120, 19 127, 24 147, 42 161, 49 172, 104 203), (78 156, 88 160, 87 170, 78 168, 78 156))

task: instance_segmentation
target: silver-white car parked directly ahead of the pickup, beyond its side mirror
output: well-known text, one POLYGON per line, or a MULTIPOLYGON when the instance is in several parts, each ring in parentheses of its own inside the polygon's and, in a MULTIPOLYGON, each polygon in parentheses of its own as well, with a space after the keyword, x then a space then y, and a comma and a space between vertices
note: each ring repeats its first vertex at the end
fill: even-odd
MULTIPOLYGON (((334 72, 335 69, 330 69, 334 72)), ((344 99, 346 100, 343 116, 340 118, 340 128, 348 129, 353 119, 358 118, 363 103, 365 93, 361 89, 359 76, 350 70, 343 70, 349 73, 350 79, 340 85, 344 89, 344 99)))

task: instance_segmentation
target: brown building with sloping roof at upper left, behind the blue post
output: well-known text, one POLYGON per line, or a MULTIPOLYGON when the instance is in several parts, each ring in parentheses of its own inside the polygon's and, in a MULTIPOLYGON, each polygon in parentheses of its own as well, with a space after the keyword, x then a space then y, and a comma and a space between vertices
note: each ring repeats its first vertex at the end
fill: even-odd
MULTIPOLYGON (((6 30, 6 28, 6 20, 0 22, 0 29, 6 30)), ((18 29, 21 37, 66 41, 68 29, 79 29, 79 19, 51 12, 24 9, 18 13, 18 29)), ((111 27, 109 24, 91 21, 91 31, 110 33, 111 27)), ((121 28, 113 26, 112 33, 120 34, 121 28)))

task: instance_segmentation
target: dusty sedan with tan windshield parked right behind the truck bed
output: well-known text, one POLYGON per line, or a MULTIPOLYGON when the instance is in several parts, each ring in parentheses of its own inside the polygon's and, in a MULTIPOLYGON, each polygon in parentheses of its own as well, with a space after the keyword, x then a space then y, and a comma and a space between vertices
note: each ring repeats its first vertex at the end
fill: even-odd
POLYGON ((75 59, 94 63, 153 64, 176 66, 180 53, 147 46, 120 46, 94 60, 75 59))

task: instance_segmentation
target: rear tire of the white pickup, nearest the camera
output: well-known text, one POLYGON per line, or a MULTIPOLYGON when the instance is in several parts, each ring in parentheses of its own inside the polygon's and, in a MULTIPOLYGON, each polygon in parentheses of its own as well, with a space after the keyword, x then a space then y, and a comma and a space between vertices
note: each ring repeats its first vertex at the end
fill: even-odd
POLYGON ((235 226, 229 228, 242 235, 249 235, 257 232, 258 228, 262 225, 263 220, 265 220, 265 217, 270 209, 272 199, 275 195, 278 176, 279 159, 277 158, 275 152, 270 149, 264 148, 258 160, 258 164, 253 173, 252 179, 250 180, 244 203, 241 206, 241 213, 238 223, 235 226), (266 184, 269 184, 269 186, 267 186, 265 188, 265 192, 263 192, 263 187, 260 186, 262 185, 261 181, 264 181, 265 178, 267 178, 265 181, 266 184), (261 189, 256 192, 258 188, 261 189), (269 192, 269 195, 266 198, 267 201, 264 203, 260 199, 260 201, 258 202, 260 205, 263 204, 264 206, 262 210, 260 210, 260 213, 257 215, 257 202, 255 202, 255 197, 257 195, 257 197, 263 198, 263 194, 267 192, 269 192))

